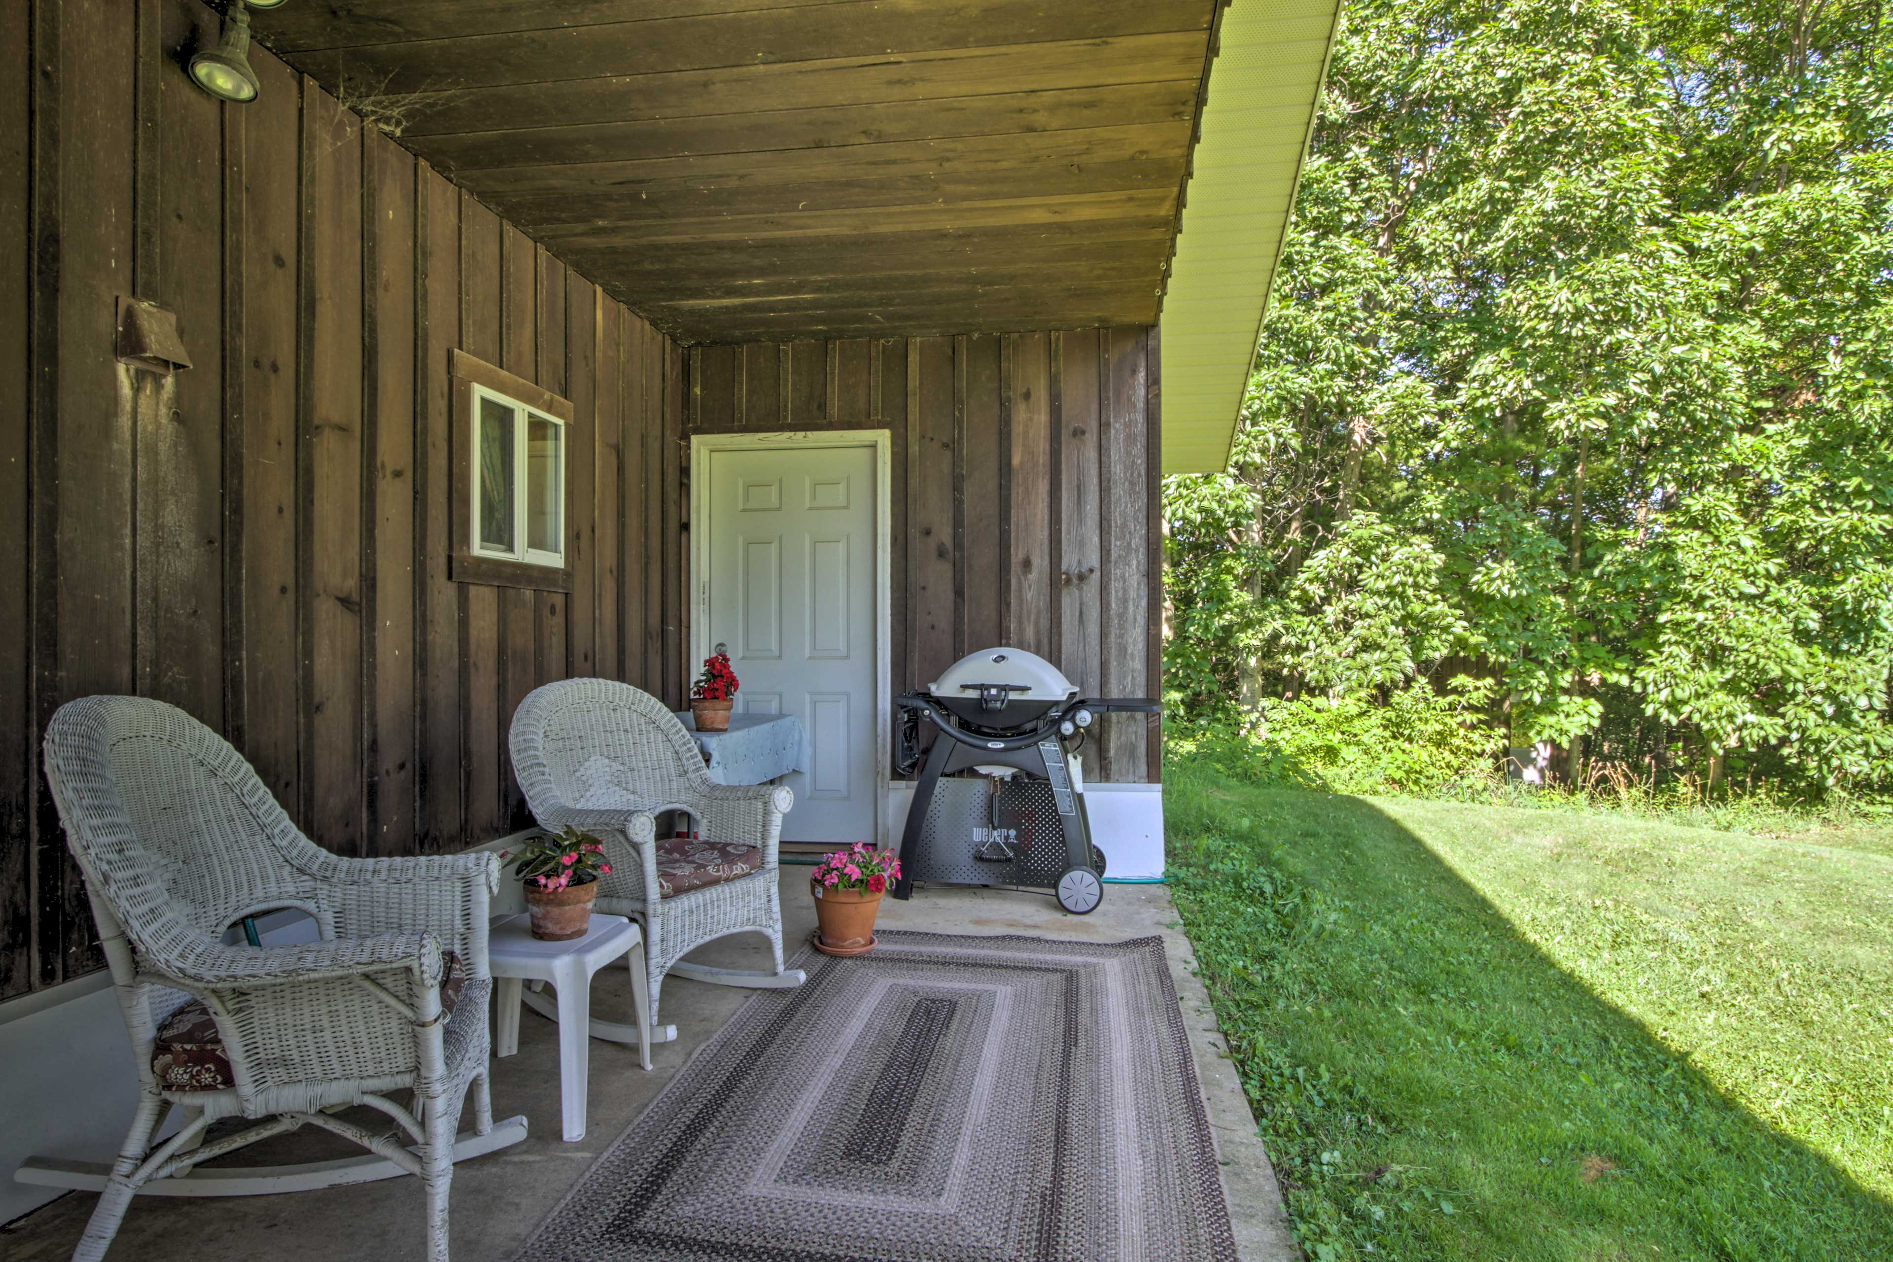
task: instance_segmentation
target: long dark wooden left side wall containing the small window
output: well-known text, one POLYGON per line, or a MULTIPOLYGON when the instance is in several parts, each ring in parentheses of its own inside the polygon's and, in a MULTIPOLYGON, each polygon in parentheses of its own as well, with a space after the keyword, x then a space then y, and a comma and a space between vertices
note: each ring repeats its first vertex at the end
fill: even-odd
POLYGON ((38 770, 70 698, 182 706, 360 855, 524 825, 505 725, 538 683, 681 700, 657 505, 683 377, 261 49, 257 102, 191 87, 180 53, 216 40, 195 0, 0 9, 0 549, 25 558, 0 600, 4 999, 98 963, 38 770), (121 293, 174 310, 195 367, 119 367, 121 293), (570 594, 447 577, 454 348, 575 405, 570 594))

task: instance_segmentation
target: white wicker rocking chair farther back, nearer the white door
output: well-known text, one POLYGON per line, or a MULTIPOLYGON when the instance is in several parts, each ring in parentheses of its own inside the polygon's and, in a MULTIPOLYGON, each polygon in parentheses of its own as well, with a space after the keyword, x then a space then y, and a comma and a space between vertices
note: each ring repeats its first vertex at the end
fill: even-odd
MULTIPOLYGON (((666 973, 717 986, 801 986, 803 971, 782 967, 782 901, 776 842, 795 795, 780 785, 719 785, 704 770, 697 742, 649 692, 610 679, 564 679, 534 689, 513 715, 513 774, 543 829, 575 825, 596 833, 611 859, 600 878, 598 910, 644 925, 651 986, 651 1041, 676 1039, 657 1024, 666 973), (689 842, 659 842, 657 815, 685 812, 699 821, 708 850, 725 865, 704 863, 689 842), (752 850, 753 848, 753 850, 752 850), (770 973, 685 963, 683 955, 731 933, 769 938, 770 973)), ((540 995, 534 1010, 557 1018, 540 995)), ((625 1029, 593 1022, 594 1033, 625 1029)))

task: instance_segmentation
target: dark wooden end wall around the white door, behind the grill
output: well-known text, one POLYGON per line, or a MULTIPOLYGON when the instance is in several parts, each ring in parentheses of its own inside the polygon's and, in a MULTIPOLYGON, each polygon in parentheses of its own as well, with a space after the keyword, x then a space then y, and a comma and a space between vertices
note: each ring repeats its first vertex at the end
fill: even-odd
MULTIPOLYGON (((1155 329, 748 342, 685 356, 691 433, 892 433, 895 691, 1003 643, 1039 653, 1092 696, 1159 692, 1155 329)), ((664 513, 681 520, 681 509, 664 513)), ((683 573, 681 545, 666 560, 683 573)), ((1159 778, 1153 719, 1107 717, 1102 745, 1087 759, 1092 780, 1159 778)))

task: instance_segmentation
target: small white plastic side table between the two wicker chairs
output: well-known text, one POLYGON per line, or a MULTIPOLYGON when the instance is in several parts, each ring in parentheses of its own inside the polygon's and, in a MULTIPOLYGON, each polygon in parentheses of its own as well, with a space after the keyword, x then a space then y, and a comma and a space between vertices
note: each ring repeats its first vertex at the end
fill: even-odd
POLYGON ((638 1063, 651 1067, 651 1014, 644 976, 644 933, 623 916, 593 912, 583 938, 541 942, 532 937, 526 914, 496 916, 487 929, 487 963, 500 982, 494 988, 494 1056, 519 1052, 519 1007, 532 1003, 558 1022, 558 1101, 564 1111, 566 1143, 585 1139, 585 1099, 591 1077, 591 1041, 638 1043, 638 1063), (619 955, 630 955, 630 1001, 634 1025, 591 1020, 591 980, 619 955), (551 982, 558 1007, 543 995, 526 997, 521 982, 551 982))

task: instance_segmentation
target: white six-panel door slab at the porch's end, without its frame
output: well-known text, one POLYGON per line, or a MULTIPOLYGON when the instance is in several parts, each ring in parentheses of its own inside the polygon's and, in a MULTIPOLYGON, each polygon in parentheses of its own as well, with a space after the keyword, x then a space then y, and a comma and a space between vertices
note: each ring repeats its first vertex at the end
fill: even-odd
POLYGON ((706 450, 708 532, 695 640, 729 645, 738 713, 793 713, 808 770, 787 778, 786 842, 873 842, 876 450, 706 450))

